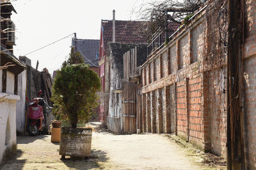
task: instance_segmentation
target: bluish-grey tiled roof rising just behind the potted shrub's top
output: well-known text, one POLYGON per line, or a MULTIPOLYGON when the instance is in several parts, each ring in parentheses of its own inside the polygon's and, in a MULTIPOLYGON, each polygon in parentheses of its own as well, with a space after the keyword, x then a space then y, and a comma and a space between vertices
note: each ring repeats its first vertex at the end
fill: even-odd
POLYGON ((84 57, 84 62, 90 64, 91 67, 98 67, 99 60, 99 39, 72 39, 72 46, 77 46, 77 52, 84 57))

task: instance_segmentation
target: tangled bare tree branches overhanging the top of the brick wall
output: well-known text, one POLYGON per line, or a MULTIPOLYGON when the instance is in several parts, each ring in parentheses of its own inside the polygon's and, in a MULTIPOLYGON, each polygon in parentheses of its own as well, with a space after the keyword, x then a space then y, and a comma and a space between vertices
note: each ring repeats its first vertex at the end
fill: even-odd
POLYGON ((204 4, 204 0, 163 0, 152 1, 152 3, 140 4, 137 13, 140 20, 148 21, 147 30, 148 39, 152 37, 159 27, 166 30, 166 21, 181 24, 184 17, 191 15, 204 4))

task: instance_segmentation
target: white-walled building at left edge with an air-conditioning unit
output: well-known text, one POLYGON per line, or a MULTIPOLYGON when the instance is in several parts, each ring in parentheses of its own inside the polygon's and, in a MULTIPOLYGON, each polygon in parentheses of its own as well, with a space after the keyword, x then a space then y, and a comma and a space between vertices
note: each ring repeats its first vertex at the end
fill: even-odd
POLYGON ((13 55, 15 25, 10 16, 16 12, 11 3, 1 2, 1 55, 0 55, 0 163, 16 152, 16 101, 18 75, 25 66, 13 55))

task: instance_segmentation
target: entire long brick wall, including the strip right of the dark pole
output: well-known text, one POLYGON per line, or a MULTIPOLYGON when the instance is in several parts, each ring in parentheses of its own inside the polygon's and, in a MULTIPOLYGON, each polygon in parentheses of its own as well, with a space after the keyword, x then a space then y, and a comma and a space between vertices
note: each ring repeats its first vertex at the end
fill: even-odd
MULTIPOLYGON (((256 169, 256 1, 245 0, 244 7, 246 30, 241 73, 244 78, 244 148, 246 167, 256 169)), ((216 9, 209 6, 208 14, 214 15, 216 9)), ((141 88, 143 106, 147 106, 143 110, 143 124, 150 125, 149 129, 153 130, 156 125, 159 133, 175 132, 189 142, 225 157, 227 48, 220 41, 218 28, 212 26, 216 24, 216 16, 209 15, 205 16, 203 10, 141 67, 145 82, 141 88), (156 71, 157 79, 153 72, 148 73, 148 66, 150 71, 156 71), (152 103, 156 103, 157 110, 152 108, 152 103), (149 114, 152 117, 147 118, 149 114)), ((147 129, 147 132, 150 131, 147 129)))

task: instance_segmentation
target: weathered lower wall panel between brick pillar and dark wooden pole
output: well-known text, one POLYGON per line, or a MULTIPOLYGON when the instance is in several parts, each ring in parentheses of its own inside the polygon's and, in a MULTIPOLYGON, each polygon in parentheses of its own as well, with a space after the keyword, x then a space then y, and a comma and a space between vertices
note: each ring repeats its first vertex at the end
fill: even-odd
MULTIPOLYGON (((209 124, 211 151, 225 156, 227 143, 227 74, 223 69, 214 69, 205 73, 205 122, 209 124), (223 81, 225 80, 225 81, 223 81)), ((207 125, 205 124, 205 125, 207 125)))

